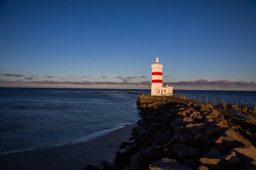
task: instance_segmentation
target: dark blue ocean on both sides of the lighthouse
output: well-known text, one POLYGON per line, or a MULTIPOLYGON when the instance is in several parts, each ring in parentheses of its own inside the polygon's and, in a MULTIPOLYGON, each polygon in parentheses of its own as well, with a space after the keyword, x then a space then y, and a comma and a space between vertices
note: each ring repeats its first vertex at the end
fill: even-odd
MULTIPOLYGON (((0 88, 0 154, 82 142, 136 123, 137 94, 150 90, 0 88), (93 93, 78 93, 78 92, 93 93), (99 92, 99 93, 98 93, 99 92)), ((256 91, 174 90, 256 105, 256 91)))

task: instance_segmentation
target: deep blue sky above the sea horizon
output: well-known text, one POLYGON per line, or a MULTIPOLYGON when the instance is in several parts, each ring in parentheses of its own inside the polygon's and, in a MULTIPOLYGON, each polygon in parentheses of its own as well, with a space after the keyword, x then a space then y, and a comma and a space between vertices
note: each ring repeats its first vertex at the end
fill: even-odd
POLYGON ((0 23, 2 87, 150 88, 159 57, 174 89, 256 90, 255 0, 3 0, 0 23))

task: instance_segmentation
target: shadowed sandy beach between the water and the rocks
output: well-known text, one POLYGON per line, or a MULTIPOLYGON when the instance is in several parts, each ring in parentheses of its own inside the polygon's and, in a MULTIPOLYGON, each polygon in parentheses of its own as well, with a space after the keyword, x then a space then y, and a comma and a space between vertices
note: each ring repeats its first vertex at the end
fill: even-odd
POLYGON ((126 125, 88 142, 0 155, 0 169, 81 170, 88 164, 99 166, 102 160, 113 163, 119 145, 128 141, 135 126, 126 125))

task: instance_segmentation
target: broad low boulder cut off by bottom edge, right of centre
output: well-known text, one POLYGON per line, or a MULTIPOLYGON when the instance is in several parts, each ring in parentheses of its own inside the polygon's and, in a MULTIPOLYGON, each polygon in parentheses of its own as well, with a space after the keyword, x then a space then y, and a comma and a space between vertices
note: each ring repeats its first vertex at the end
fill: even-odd
POLYGON ((150 170, 192 170, 183 164, 178 163, 174 159, 163 158, 155 161, 148 167, 150 170))

